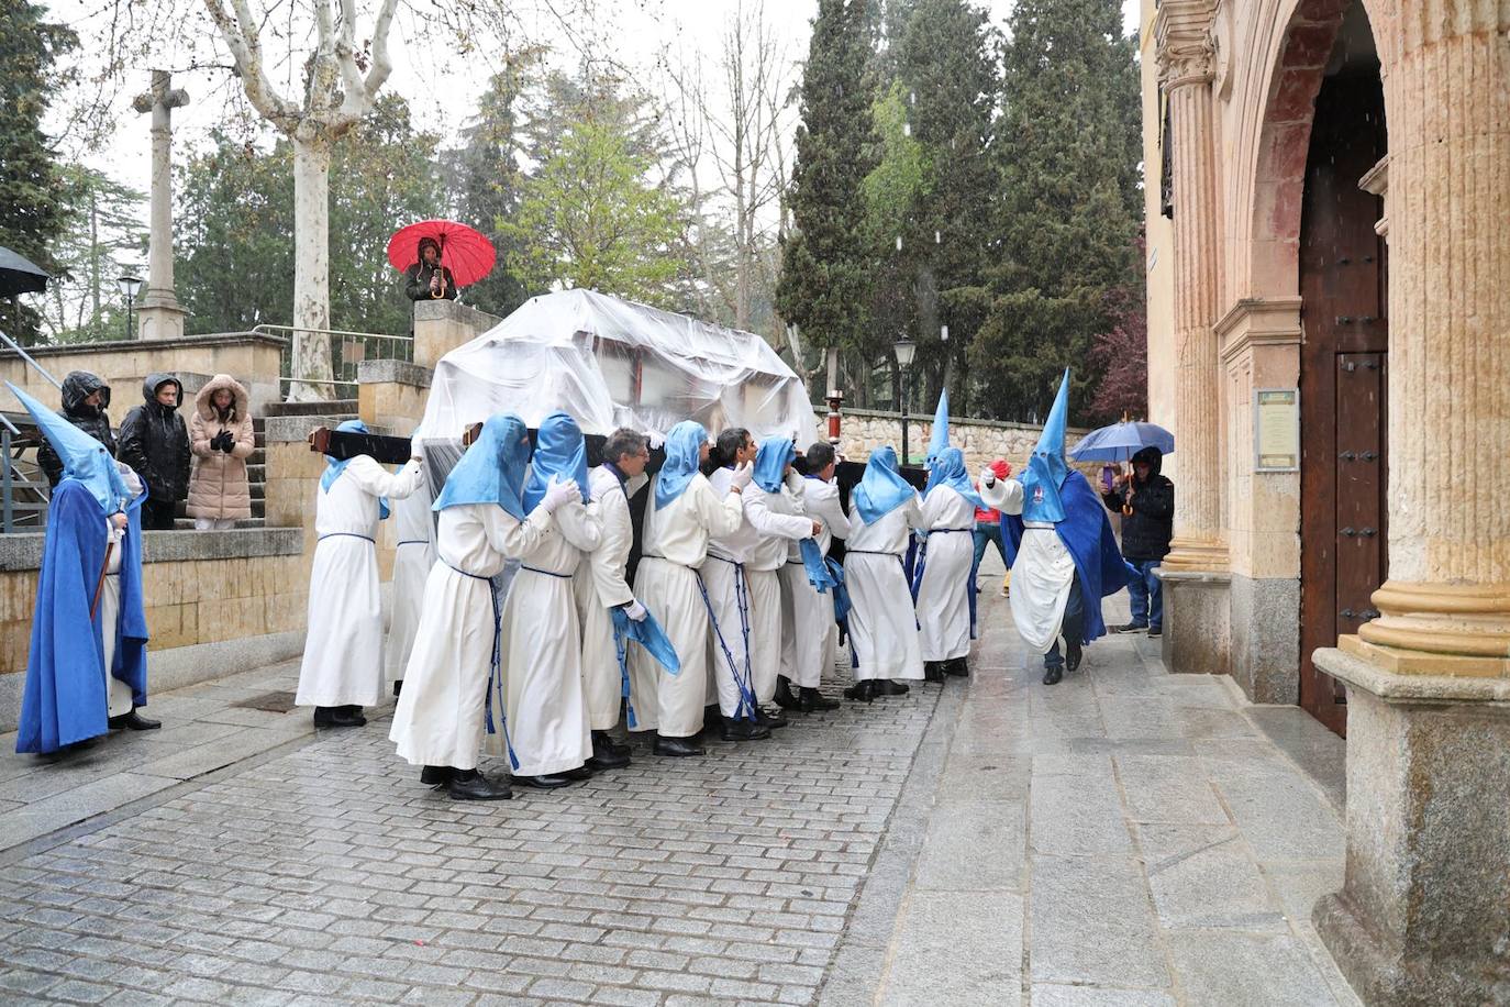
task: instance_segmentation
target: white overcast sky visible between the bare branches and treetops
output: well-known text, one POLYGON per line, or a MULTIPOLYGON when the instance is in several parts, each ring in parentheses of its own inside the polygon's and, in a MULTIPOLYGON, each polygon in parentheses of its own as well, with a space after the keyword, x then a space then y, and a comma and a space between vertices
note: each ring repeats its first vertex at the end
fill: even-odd
MULTIPOLYGON (((436 2, 447 3, 450 0, 436 2)), ((204 8, 199 0, 180 0, 180 3, 186 3, 193 15, 202 17, 204 8)), ((412 9, 423 11, 429 3, 430 0, 418 0, 412 9)), ((749 0, 746 0, 747 3, 749 0)), ((556 6, 556 0, 544 0, 542 9, 545 5, 556 6)), ((98 0, 51 0, 48 17, 85 23, 86 12, 97 6, 98 0)), ((361 6, 371 9, 374 5, 362 3, 361 6)), ((764 0, 764 6, 767 21, 785 41, 787 57, 790 60, 805 59, 809 20, 817 11, 817 0, 764 0)), ((1006 23, 1012 0, 989 0, 986 6, 992 21, 1000 26, 1006 23)), ((667 50, 690 53, 699 48, 716 59, 719 38, 737 8, 738 0, 599 0, 599 17, 593 24, 572 26, 568 30, 550 15, 536 15, 533 24, 527 24, 525 30, 536 39, 551 39, 557 50, 556 60, 563 68, 571 68, 580 60, 580 48, 612 51, 621 63, 633 68, 637 80, 658 94, 657 59, 667 50)), ((1122 9, 1126 30, 1136 30, 1139 0, 1122 0, 1122 9)), ((415 29, 412 17, 411 14, 406 20, 405 15, 400 15, 396 23, 396 36, 390 41, 394 72, 385 89, 409 100, 417 125, 453 137, 473 113, 476 97, 497 68, 495 54, 455 56, 453 51, 439 44, 409 45, 406 36, 415 29)), ((365 24, 370 24, 370 20, 364 20, 365 24)), ((267 48, 272 50, 270 42, 267 48)), ((175 62, 184 62, 183 56, 175 59, 171 53, 157 56, 162 60, 154 59, 154 63, 166 62, 171 66, 175 62)), ((83 54, 83 60, 88 66, 91 62, 88 51, 83 54)), ((216 62, 228 63, 230 59, 220 56, 216 62)), ((74 149, 63 137, 66 156, 83 157, 86 163, 142 192, 149 187, 148 116, 137 115, 130 109, 128 95, 146 89, 148 69, 149 66, 143 65, 134 71, 133 86, 118 103, 116 125, 109 140, 92 149, 74 149)), ((275 80, 275 83, 281 82, 275 80)), ((225 95, 231 88, 223 69, 177 72, 174 85, 187 89, 190 95, 189 107, 174 113, 174 162, 183 163, 186 149, 204 145, 211 128, 225 121, 225 95)), ((145 204, 142 216, 145 223, 145 204)))

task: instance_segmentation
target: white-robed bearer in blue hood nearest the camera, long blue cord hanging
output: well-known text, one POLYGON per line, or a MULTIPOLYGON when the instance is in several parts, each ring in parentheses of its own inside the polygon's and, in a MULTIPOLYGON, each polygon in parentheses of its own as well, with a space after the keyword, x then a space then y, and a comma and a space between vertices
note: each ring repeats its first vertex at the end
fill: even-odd
POLYGON ((456 800, 510 797, 507 781, 494 782, 477 768, 488 732, 509 737, 492 578, 548 534, 556 509, 578 498, 575 486, 556 483, 525 512, 528 459, 524 421, 512 414, 492 417, 433 504, 438 562, 424 581, 388 737, 400 758, 424 767, 421 782, 444 787, 456 800))

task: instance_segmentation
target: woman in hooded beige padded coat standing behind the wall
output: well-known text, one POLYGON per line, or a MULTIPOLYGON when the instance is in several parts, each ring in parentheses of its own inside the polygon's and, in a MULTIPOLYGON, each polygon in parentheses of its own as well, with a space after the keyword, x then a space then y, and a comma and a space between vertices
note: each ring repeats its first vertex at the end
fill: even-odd
POLYGON ((230 374, 216 374, 199 390, 189 424, 193 477, 189 480, 189 516, 199 531, 234 528, 252 516, 246 459, 257 447, 246 390, 230 374))

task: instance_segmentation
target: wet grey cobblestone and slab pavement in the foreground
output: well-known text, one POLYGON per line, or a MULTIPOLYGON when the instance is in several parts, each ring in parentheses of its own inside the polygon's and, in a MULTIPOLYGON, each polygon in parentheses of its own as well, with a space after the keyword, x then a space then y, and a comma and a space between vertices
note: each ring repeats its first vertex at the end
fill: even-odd
POLYGON ((387 719, 223 713, 287 667, 165 696, 172 749, 6 759, 0 1001, 1348 1002, 1308 922, 1336 812, 1231 687, 1123 637, 1045 688, 983 601, 968 684, 506 803, 387 719))

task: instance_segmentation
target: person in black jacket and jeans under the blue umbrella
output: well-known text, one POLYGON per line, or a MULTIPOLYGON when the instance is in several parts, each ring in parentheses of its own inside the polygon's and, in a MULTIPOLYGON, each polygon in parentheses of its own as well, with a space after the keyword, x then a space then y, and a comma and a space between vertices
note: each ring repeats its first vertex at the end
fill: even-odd
POLYGON ((1132 456, 1132 476, 1117 476, 1111 492, 1102 494, 1107 507, 1122 513, 1122 559, 1143 574, 1128 583, 1132 595, 1132 622, 1113 633, 1148 630, 1151 637, 1164 631, 1164 592, 1154 571, 1169 554, 1175 534, 1175 483, 1160 474, 1164 453, 1146 447, 1132 456))

